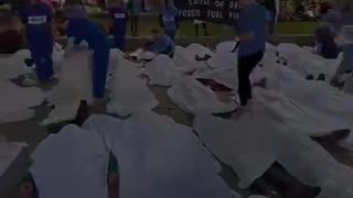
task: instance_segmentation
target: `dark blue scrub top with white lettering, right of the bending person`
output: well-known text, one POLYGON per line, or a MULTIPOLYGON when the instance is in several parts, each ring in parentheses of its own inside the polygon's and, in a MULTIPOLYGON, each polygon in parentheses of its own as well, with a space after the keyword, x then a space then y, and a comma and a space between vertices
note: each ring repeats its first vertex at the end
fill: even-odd
POLYGON ((128 11, 124 7, 115 7, 109 9, 111 19, 114 20, 114 34, 125 35, 127 29, 128 11))

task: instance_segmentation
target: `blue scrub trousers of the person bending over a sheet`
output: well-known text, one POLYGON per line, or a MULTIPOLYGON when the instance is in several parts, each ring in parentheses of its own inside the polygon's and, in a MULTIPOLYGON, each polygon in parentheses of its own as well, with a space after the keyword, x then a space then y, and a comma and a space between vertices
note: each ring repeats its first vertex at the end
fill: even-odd
POLYGON ((109 64, 109 52, 108 46, 98 47, 94 51, 93 94, 95 98, 104 98, 109 64))

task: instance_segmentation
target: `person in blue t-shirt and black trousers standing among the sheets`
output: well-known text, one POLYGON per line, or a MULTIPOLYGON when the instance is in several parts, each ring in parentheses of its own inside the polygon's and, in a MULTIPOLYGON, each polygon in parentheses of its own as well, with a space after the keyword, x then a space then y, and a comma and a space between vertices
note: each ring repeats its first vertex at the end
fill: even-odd
POLYGON ((240 40, 238 92, 240 106, 244 107, 253 98, 249 76, 264 56, 268 15, 266 9, 255 0, 240 0, 239 2, 242 10, 236 24, 240 40))

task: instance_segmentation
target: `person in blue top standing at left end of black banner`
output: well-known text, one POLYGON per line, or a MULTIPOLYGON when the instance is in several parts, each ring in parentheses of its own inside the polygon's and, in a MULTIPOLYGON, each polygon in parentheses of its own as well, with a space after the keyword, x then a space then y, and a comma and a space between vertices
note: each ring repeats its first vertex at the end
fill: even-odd
POLYGON ((165 6, 160 15, 161 26, 164 28, 164 32, 170 38, 174 40, 178 29, 178 9, 174 7, 171 0, 165 0, 165 6))

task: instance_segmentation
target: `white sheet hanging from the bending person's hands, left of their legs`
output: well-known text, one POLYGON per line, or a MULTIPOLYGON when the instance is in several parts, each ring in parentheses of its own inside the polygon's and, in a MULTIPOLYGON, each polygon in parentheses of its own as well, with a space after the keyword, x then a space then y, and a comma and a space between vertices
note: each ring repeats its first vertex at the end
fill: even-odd
POLYGON ((43 120, 43 125, 73 120, 82 100, 93 102, 92 67, 90 51, 73 51, 65 56, 58 86, 47 97, 55 109, 43 120))

